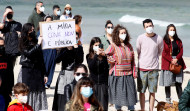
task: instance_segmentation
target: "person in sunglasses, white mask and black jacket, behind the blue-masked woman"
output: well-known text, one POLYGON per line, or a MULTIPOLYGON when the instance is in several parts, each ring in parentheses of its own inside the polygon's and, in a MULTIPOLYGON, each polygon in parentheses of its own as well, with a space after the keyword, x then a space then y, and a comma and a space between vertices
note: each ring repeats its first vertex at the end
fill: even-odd
POLYGON ((64 88, 65 101, 62 101, 63 103, 60 103, 63 106, 62 110, 60 109, 61 111, 65 109, 65 104, 71 99, 77 81, 79 81, 82 77, 87 77, 87 76, 88 76, 88 69, 84 64, 79 64, 75 67, 74 80, 70 84, 67 84, 64 88))

